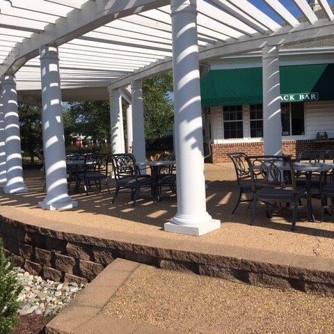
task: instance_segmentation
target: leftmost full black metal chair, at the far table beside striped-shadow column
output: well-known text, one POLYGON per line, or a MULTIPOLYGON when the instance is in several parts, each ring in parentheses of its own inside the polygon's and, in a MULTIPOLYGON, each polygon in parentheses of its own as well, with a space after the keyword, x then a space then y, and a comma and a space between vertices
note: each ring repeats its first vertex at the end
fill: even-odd
POLYGON ((80 187, 81 182, 84 182, 86 195, 88 195, 88 191, 91 190, 92 182, 95 183, 99 191, 101 191, 102 182, 104 182, 109 189, 107 182, 109 161, 107 154, 87 154, 85 156, 83 170, 77 173, 77 182, 78 187, 80 187))

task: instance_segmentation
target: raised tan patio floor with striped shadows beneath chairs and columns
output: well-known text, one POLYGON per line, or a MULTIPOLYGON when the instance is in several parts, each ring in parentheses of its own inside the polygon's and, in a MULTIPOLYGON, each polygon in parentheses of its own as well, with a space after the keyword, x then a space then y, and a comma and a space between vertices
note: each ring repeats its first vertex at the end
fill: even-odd
MULTIPOLYGON (((129 193, 120 193, 116 205, 111 204, 111 196, 103 189, 93 192, 72 194, 79 207, 63 212, 49 212, 38 208, 38 201, 45 197, 40 173, 26 171, 26 184, 29 193, 3 195, 0 204, 2 211, 15 212, 25 217, 57 221, 68 225, 79 225, 83 230, 98 228, 102 231, 127 232, 143 235, 149 239, 166 238, 169 241, 191 240, 205 244, 220 244, 273 250, 294 255, 314 255, 334 258, 334 216, 326 216, 323 223, 310 223, 306 220, 306 210, 301 209, 295 232, 290 231, 292 212, 284 210, 279 216, 267 218, 264 205, 259 205, 254 226, 248 225, 251 210, 241 204, 236 214, 231 214, 237 199, 232 164, 206 164, 207 210, 213 218, 221 220, 221 229, 202 237, 192 237, 164 232, 163 226, 176 212, 176 197, 164 193, 161 202, 154 203, 150 192, 143 192, 138 205, 132 207, 129 193)), ((315 215, 319 218, 319 200, 313 200, 315 215)), ((1 213, 1 209, 0 209, 1 213)), ((209 245, 208 245, 209 246, 209 245)))

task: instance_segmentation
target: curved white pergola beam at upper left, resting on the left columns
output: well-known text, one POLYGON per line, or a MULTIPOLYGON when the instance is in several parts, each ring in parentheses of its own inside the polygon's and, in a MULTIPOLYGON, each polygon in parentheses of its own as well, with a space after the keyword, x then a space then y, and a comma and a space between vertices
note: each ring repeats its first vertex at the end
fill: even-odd
MULTIPOLYGON (((64 1, 56 2, 64 4, 64 1)), ((65 2, 69 3, 68 1, 65 2)), ((81 6, 81 10, 72 10, 66 18, 60 17, 57 19, 56 24, 45 26, 43 33, 33 33, 31 38, 26 38, 22 43, 17 44, 3 61, 0 75, 9 70, 17 72, 26 61, 38 56, 38 49, 42 45, 63 45, 65 42, 113 21, 113 19, 120 19, 159 6, 166 6, 169 2, 169 0, 87 1, 81 6)))

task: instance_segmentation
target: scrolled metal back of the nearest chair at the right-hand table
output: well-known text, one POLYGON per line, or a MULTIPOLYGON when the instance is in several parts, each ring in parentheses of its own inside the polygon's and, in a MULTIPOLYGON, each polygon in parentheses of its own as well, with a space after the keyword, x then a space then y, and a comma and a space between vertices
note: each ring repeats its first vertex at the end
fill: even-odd
POLYGON ((291 186, 297 193, 296 172, 291 157, 260 155, 247 157, 253 191, 260 186, 291 186))

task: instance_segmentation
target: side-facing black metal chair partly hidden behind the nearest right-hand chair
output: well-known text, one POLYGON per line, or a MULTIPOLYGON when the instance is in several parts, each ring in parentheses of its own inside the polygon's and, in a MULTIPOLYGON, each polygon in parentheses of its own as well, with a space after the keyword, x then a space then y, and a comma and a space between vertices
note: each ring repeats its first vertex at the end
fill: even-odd
POLYGON ((237 205, 235 205, 232 214, 237 210, 237 207, 239 207, 240 203, 243 202, 249 202, 248 207, 253 202, 253 196, 252 198, 244 198, 241 199, 243 195, 251 194, 253 195, 253 188, 252 188, 252 180, 250 176, 250 170, 248 168, 247 163, 247 154, 244 152, 232 152, 227 154, 228 157, 233 162, 235 173, 237 174, 237 184, 239 186, 239 197, 237 200, 237 205))

